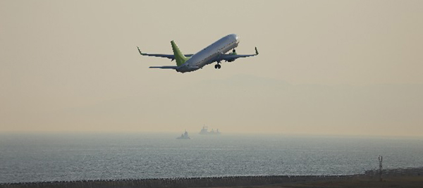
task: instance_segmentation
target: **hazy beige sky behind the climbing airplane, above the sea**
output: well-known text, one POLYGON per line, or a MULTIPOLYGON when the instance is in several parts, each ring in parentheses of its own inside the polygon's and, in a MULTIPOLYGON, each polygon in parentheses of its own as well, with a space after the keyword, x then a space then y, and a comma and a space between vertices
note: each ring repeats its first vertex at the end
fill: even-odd
POLYGON ((423 136, 423 1, 0 1, 0 132, 423 136), (174 65, 236 33, 238 54, 174 65))

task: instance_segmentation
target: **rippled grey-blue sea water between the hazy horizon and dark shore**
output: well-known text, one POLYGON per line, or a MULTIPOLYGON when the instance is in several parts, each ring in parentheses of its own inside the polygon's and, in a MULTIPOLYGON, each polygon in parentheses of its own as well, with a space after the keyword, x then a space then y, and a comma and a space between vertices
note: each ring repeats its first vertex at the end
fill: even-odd
POLYGON ((423 166, 423 139, 0 134, 0 182, 228 175, 345 175, 423 166))

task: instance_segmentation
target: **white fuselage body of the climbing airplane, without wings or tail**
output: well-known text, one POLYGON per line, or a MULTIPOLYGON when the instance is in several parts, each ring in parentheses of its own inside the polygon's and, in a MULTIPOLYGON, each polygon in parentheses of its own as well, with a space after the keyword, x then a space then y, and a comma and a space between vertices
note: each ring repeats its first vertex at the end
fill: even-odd
POLYGON ((202 68, 204 65, 213 63, 221 54, 225 54, 231 49, 235 49, 239 42, 240 39, 237 35, 227 35, 197 52, 197 54, 192 55, 188 61, 176 68, 176 71, 180 73, 190 72, 202 68))

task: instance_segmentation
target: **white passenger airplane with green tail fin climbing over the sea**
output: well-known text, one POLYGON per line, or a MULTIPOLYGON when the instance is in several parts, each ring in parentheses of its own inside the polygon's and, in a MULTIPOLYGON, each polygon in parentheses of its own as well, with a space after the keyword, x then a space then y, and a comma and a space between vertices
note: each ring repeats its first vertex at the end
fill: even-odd
POLYGON ((255 48, 255 54, 251 55, 238 55, 236 54, 235 47, 240 43, 238 35, 231 34, 219 39, 218 41, 210 44, 205 49, 197 52, 197 54, 183 54, 175 41, 171 41, 173 49, 173 55, 168 54, 145 54, 142 53, 140 48, 137 46, 141 56, 154 56, 161 58, 170 58, 171 61, 176 60, 176 66, 152 66, 149 68, 161 68, 161 69, 173 69, 179 73, 187 73, 203 68, 205 65, 216 62, 214 68, 220 69, 221 61, 232 62, 237 58, 246 58, 251 56, 259 55, 257 47, 255 48), (232 53, 226 54, 226 52, 232 49, 232 53))

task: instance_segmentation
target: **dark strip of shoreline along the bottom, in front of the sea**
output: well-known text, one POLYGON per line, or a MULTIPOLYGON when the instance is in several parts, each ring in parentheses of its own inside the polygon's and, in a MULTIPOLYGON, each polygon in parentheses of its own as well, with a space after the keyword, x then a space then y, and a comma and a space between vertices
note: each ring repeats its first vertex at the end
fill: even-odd
MULTIPOLYGON (((423 167, 396 168, 383 170, 382 178, 386 180, 413 180, 423 182, 423 167)), ((364 174, 357 175, 253 175, 253 176, 225 176, 225 177, 175 177, 175 178, 150 178, 150 179, 123 179, 123 180, 78 180, 78 181, 51 181, 51 182, 17 182, 1 183, 0 188, 18 187, 245 187, 286 184, 296 186, 303 184, 312 185, 311 182, 320 184, 379 182, 378 170, 367 170, 364 174)), ((364 183, 365 184, 365 183, 364 183)), ((395 184, 395 183, 394 183, 395 184)), ((313 185, 314 186, 314 185, 313 185)), ((357 185, 358 186, 358 185, 357 185)))

